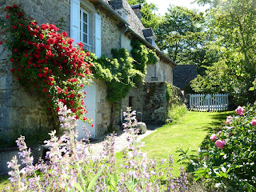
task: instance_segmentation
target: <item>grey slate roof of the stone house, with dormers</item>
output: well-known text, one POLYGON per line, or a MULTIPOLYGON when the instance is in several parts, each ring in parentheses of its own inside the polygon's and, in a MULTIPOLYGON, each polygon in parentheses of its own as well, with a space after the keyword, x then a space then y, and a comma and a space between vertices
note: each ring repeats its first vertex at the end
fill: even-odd
MULTIPOLYGON (((90 2, 99 3, 101 6, 103 6, 106 10, 109 10, 112 14, 114 14, 120 22, 122 22, 124 25, 128 26, 128 31, 130 31, 131 34, 133 34, 136 38, 138 38, 140 41, 143 42, 147 47, 149 47, 151 50, 156 50, 156 54, 159 58, 162 59, 162 61, 169 63, 172 66, 177 66, 175 62, 173 62, 170 58, 168 58, 165 54, 161 52, 161 50, 158 49, 158 46, 154 47, 150 44, 150 42, 146 41, 146 37, 150 36, 144 36, 143 30, 146 31, 146 34, 154 34, 153 30, 150 32, 150 28, 145 28, 142 25, 142 22, 137 17, 137 15, 134 13, 134 10, 130 7, 129 3, 126 0, 90 0, 90 2), (120 14, 118 14, 117 11, 119 9, 124 9, 128 12, 126 20, 124 20, 120 14)), ((152 36, 152 35, 151 35, 152 36)))

